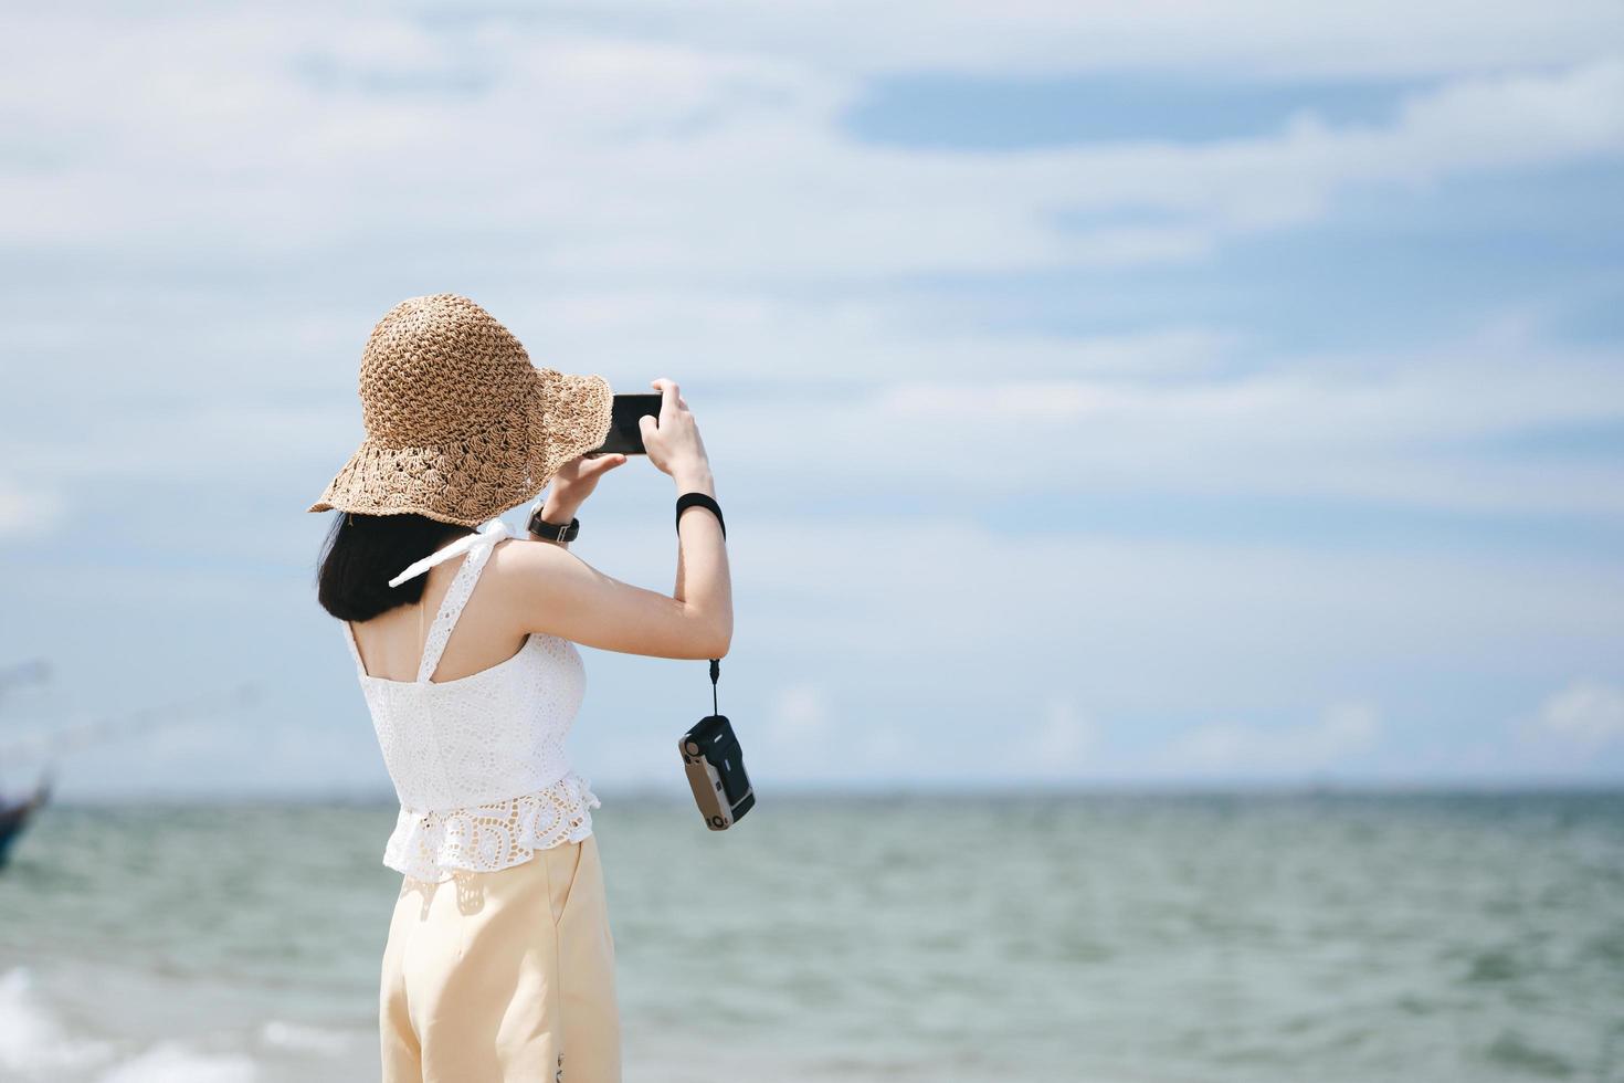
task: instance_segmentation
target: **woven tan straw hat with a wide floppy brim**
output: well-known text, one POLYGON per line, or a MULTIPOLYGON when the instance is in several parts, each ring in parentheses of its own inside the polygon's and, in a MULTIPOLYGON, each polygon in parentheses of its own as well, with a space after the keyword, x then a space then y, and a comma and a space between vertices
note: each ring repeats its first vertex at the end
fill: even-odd
POLYGON ((598 375, 533 365, 489 312, 434 294, 372 328, 361 406, 367 437, 309 510, 479 526, 601 447, 614 391, 598 375))

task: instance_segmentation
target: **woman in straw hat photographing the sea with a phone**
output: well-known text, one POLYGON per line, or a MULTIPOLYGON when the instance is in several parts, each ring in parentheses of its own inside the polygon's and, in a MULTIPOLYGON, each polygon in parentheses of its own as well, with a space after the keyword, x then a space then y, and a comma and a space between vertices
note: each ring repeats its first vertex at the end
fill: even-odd
POLYGON ((367 341, 367 437, 310 511, 341 511, 320 602, 401 802, 383 852, 401 874, 378 995, 385 1083, 620 1078, 599 800, 565 753, 585 693, 575 645, 702 659, 732 636, 705 445, 677 385, 653 386, 648 460, 679 495, 708 498, 677 516, 669 598, 567 550, 575 513, 625 461, 585 455, 609 430, 603 377, 531 365, 455 294, 401 302, 367 341), (497 518, 547 482, 528 536, 497 518))

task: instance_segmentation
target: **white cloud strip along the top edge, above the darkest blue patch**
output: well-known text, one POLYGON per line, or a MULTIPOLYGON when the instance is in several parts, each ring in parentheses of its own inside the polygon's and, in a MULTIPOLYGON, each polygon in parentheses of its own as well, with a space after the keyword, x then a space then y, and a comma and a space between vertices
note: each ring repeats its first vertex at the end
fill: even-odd
POLYGON ((856 71, 1402 78, 1569 63, 1624 36, 1624 15, 1606 0, 1431 0, 1426 8, 1377 0, 1312 10, 1291 0, 927 0, 880 8, 857 0, 700 0, 682 5, 680 16, 650 0, 593 0, 577 11, 856 71))

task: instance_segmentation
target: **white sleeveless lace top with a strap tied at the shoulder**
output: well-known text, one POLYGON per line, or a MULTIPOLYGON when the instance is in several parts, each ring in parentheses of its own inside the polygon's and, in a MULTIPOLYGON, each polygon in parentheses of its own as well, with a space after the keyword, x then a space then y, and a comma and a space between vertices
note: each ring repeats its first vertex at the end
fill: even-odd
POLYGON ((507 869, 593 830, 599 800, 570 770, 564 747, 586 693, 573 643, 533 632, 503 662, 456 680, 429 680, 490 550, 516 536, 492 520, 390 580, 395 586, 468 554, 429 627, 416 680, 369 675, 354 628, 339 622, 401 802, 383 864, 414 880, 507 869))

